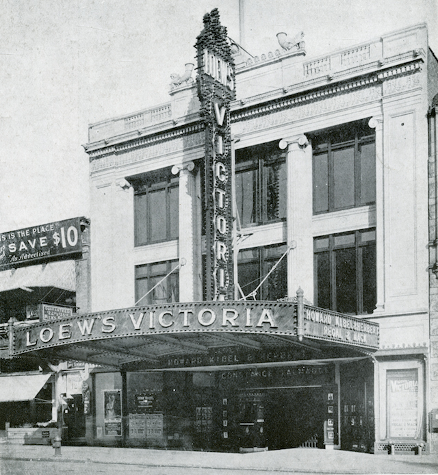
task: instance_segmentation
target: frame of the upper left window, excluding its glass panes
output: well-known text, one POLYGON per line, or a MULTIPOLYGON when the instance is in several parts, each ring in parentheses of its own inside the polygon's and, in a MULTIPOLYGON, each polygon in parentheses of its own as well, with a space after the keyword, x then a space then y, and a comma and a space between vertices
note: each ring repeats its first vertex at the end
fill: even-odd
POLYGON ((177 206, 175 208, 176 214, 179 217, 179 177, 174 177, 169 171, 155 172, 143 177, 142 179, 133 181, 134 188, 134 246, 146 246, 148 244, 155 244, 157 242, 172 241, 179 238, 179 218, 177 221, 177 232, 172 233, 172 201, 171 194, 172 192, 177 193, 177 206), (151 210, 151 194, 164 191, 166 203, 166 233, 162 239, 153 239, 151 236, 152 232, 152 223, 154 214, 151 210), (140 211, 139 198, 144 197, 146 203, 140 211), (139 230, 139 220, 140 214, 146 216, 146 226, 144 231, 140 232, 139 230))

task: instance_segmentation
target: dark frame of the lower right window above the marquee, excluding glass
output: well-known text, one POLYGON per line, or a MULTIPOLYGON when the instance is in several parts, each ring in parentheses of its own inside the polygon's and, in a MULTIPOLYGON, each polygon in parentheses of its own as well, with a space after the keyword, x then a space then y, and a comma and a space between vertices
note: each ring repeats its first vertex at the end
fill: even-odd
MULTIPOLYGON (((316 236, 313 238, 313 285, 314 285, 314 296, 315 296, 315 305, 317 307, 322 307, 318 301, 318 255, 323 253, 328 253, 329 255, 329 298, 330 305, 329 309, 332 311, 340 311, 337 309, 337 269, 336 269, 336 252, 344 249, 355 249, 355 292, 356 292, 356 311, 355 313, 348 312, 352 315, 370 315, 372 312, 368 313, 364 310, 365 294, 364 294, 364 274, 363 274, 363 249, 374 247, 374 276, 376 278, 376 229, 356 229, 354 231, 346 231, 344 233, 333 233, 329 235, 316 236), (365 233, 373 232, 373 240, 363 240, 361 236, 365 233), (335 239, 342 236, 354 235, 354 243, 348 244, 335 244, 335 239), (318 240, 329 240, 329 245, 324 248, 318 248, 316 243, 318 240)), ((374 301, 376 302, 376 289, 377 281, 374 281, 374 301)), ((375 304, 374 304, 375 308, 375 304)), ((374 311, 374 309, 373 309, 374 311)), ((347 312, 344 312, 347 313, 347 312)))

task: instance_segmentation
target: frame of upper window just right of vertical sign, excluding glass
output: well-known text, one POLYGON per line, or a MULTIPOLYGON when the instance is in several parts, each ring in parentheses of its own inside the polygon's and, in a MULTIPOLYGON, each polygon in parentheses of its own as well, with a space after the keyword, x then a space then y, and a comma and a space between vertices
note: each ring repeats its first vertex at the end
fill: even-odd
MULTIPOLYGON (((253 171, 253 222, 243 223, 241 227, 259 226, 261 224, 268 224, 271 222, 285 221, 287 218, 287 173, 285 185, 285 216, 280 218, 268 217, 268 171, 267 168, 272 164, 286 165, 286 151, 279 149, 278 142, 268 142, 265 144, 258 144, 254 146, 245 147, 244 149, 237 149, 235 151, 235 177, 243 172, 253 171)), ((279 177, 279 182, 281 177, 279 177)), ((237 184, 235 186, 235 198, 237 208, 237 184)), ((281 193, 279 193, 281 196, 281 193)), ((237 209, 237 212, 240 212, 237 209)))

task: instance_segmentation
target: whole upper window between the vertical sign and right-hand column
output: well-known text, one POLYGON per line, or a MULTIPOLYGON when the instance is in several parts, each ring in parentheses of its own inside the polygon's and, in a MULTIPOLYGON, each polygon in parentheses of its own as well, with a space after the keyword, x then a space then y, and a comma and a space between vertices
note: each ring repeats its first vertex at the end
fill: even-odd
POLYGON ((286 218, 286 152, 278 142, 235 153, 235 199, 242 227, 286 218))

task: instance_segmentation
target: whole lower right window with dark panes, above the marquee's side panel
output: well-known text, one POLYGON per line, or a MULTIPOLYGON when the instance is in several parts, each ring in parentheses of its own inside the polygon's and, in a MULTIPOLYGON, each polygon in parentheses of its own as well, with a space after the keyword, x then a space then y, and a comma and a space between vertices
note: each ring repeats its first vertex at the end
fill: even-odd
POLYGON ((341 313, 372 313, 376 306, 376 231, 315 238, 315 300, 341 313))

